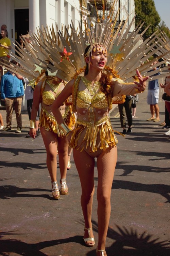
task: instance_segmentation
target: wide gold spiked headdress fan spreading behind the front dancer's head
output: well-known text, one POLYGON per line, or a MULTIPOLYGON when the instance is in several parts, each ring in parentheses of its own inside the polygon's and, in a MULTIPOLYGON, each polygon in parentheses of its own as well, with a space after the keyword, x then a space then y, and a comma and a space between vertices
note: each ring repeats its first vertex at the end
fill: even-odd
MULTIPOLYGON (((146 76, 148 71, 151 71, 156 65, 151 66, 155 59, 162 59, 159 65, 166 63, 170 59, 170 41, 165 33, 156 31, 148 39, 138 44, 139 39, 142 39, 142 34, 139 34, 143 23, 139 23, 135 29, 131 31, 135 17, 128 26, 128 19, 120 22, 116 29, 118 12, 115 13, 117 0, 114 0, 106 15, 105 1, 102 0, 102 14, 99 15, 96 8, 96 22, 92 23, 88 10, 80 2, 82 11, 82 22, 84 31, 81 25, 75 29, 73 23, 69 28, 62 28, 55 34, 54 28, 42 27, 37 28, 37 34, 30 34, 30 41, 24 39, 25 48, 21 48, 16 44, 15 54, 10 54, 12 58, 21 65, 14 68, 7 65, 9 70, 15 70, 23 76, 27 76, 30 80, 36 80, 39 77, 41 70, 48 71, 49 75, 55 75, 65 81, 71 80, 84 70, 84 50, 90 44, 89 51, 86 56, 90 56, 92 51, 95 51, 96 45, 104 45, 107 50, 107 66, 106 70, 114 76, 120 77, 124 82, 132 82, 135 79, 136 69, 139 69, 142 76, 146 76), (95 47, 94 47, 95 46, 95 47), (154 59, 148 61, 151 56, 154 59)), ((143 31, 147 31, 149 26, 143 31)), ((169 72, 167 68, 160 69, 164 71, 160 77, 165 77, 169 72)), ((149 73, 150 80, 157 79, 158 76, 153 76, 158 71, 153 70, 149 73)))

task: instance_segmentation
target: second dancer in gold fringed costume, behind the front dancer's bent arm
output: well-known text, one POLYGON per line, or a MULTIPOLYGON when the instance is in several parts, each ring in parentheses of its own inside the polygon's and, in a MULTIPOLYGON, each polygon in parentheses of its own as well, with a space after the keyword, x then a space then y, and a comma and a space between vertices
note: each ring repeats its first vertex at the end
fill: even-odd
MULTIPOLYGON (((54 199, 60 198, 62 195, 68 194, 68 187, 66 184, 66 173, 68 164, 68 140, 65 137, 63 131, 58 127, 56 120, 51 111, 51 104, 55 100, 56 96, 65 87, 64 81, 61 81, 57 77, 48 76, 47 74, 37 83, 33 94, 33 106, 31 111, 31 125, 30 136, 35 139, 35 117, 39 104, 41 103, 41 113, 39 126, 41 135, 43 137, 44 145, 47 152, 47 168, 52 182, 52 195, 54 199), (60 185, 59 191, 57 184, 57 148, 58 157, 60 163, 60 185)), ((63 116, 65 122, 71 128, 74 124, 74 118, 70 113, 70 107, 67 104, 67 100, 60 107, 60 113, 63 116)))

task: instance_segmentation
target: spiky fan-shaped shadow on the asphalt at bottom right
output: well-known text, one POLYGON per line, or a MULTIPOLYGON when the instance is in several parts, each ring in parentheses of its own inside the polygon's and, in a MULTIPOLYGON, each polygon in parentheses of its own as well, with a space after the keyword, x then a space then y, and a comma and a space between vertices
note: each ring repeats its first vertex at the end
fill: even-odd
MULTIPOLYGON (((93 225, 97 226, 96 223, 93 225)), ((169 256, 169 241, 160 241, 146 231, 141 234, 133 228, 116 225, 115 230, 108 228, 107 237, 115 240, 110 247, 106 247, 107 256, 169 256)), ((95 255, 94 250, 87 256, 95 255)))

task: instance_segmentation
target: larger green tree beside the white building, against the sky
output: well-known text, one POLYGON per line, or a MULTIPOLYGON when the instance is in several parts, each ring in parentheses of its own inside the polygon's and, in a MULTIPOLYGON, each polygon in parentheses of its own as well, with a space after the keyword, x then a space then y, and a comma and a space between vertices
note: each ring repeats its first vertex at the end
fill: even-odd
POLYGON ((143 35, 143 38, 146 39, 150 37, 157 29, 158 24, 160 23, 160 16, 155 8, 155 3, 153 0, 135 0, 135 25, 140 21, 145 22, 142 26, 141 33, 145 28, 150 25, 149 29, 143 35))

